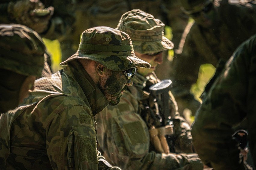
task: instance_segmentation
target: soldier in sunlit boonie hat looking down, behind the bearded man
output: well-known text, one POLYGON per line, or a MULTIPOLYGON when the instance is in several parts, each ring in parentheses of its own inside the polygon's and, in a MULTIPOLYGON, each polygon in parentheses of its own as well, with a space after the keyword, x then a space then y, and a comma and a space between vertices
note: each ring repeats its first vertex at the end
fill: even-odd
MULTIPOLYGON (((173 48, 173 43, 163 36, 164 26, 159 19, 139 9, 124 13, 117 26, 118 30, 130 35, 136 56, 151 64, 148 70, 138 69, 133 78, 134 86, 128 87, 117 106, 108 106, 96 116, 99 148, 108 161, 122 169, 203 169, 197 154, 169 152, 163 131, 169 133, 170 126, 162 127, 159 121, 150 122, 157 116, 158 107, 156 102, 149 103, 148 100, 149 87, 160 81, 154 70, 163 61, 163 50, 173 48), (143 113, 147 115, 143 116, 143 113), (148 116, 151 117, 147 119, 148 116), (149 136, 151 132, 157 134, 160 129, 163 129, 162 138, 149 136)), ((175 99, 169 94, 175 151, 192 153, 190 126, 179 116, 175 99)))

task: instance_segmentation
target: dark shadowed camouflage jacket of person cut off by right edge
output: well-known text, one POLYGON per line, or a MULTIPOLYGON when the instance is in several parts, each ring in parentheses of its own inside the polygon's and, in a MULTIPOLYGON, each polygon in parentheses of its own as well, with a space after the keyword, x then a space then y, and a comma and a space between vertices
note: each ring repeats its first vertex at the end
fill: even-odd
POLYGON ((214 169, 245 169, 239 144, 231 137, 232 128, 243 120, 256 164, 255 57, 256 35, 233 53, 196 114, 192 126, 194 146, 203 162, 214 169))

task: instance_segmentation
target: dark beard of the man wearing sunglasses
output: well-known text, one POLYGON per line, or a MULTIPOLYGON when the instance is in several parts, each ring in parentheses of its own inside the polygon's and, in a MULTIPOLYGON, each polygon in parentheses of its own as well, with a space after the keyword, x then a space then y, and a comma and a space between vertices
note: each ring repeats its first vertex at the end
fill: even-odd
POLYGON ((102 77, 99 81, 99 89, 105 95, 109 105, 117 105, 120 102, 121 91, 126 90, 127 86, 123 87, 121 82, 117 79, 115 71, 109 71, 108 75, 102 77))

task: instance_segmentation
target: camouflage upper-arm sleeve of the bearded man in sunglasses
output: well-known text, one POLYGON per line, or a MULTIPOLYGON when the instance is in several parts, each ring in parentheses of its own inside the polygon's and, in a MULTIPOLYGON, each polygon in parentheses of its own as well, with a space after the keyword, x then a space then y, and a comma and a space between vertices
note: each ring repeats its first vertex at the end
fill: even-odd
POLYGON ((53 169, 98 169, 96 132, 86 107, 53 115, 46 126, 47 155, 53 169))

